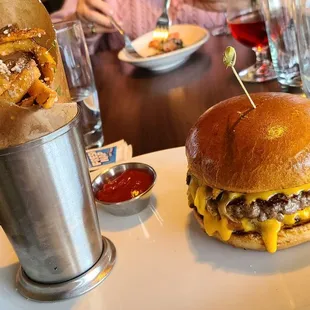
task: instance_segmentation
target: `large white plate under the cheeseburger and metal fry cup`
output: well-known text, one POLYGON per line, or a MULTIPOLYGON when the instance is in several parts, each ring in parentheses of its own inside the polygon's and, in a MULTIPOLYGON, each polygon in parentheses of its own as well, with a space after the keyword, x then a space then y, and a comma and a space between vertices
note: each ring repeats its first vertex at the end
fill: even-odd
POLYGON ((51 304, 22 298, 14 289, 16 256, 0 231, 0 309, 309 310, 310 243, 268 254, 206 236, 187 206, 184 153, 134 159, 157 172, 153 206, 128 218, 99 209, 118 258, 106 281, 80 298, 51 304))

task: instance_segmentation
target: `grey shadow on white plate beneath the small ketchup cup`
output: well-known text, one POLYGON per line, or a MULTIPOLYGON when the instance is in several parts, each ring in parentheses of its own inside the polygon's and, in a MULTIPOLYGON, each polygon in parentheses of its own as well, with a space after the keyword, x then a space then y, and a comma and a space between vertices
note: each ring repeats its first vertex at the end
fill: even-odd
POLYGON ((152 195, 149 206, 140 213, 131 216, 115 216, 109 214, 103 208, 98 208, 100 227, 103 231, 123 231, 143 225, 151 216, 157 215, 156 206, 156 197, 152 195))

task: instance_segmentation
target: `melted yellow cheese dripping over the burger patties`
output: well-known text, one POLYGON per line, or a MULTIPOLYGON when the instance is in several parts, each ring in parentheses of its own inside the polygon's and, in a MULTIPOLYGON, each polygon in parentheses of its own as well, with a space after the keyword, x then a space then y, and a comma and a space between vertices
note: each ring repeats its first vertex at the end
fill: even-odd
MULTIPOLYGON (((268 191, 254 194, 224 192, 218 206, 220 218, 216 218, 206 211, 206 203, 208 198, 210 198, 211 196, 217 196, 221 191, 214 189, 208 191, 205 186, 198 186, 198 183, 196 181, 191 182, 189 190, 191 192, 194 204, 197 207, 199 214, 204 217, 203 222, 206 233, 209 236, 213 236, 217 232, 224 241, 227 241, 230 239, 233 231, 228 228, 226 206, 232 200, 239 197, 244 197, 246 202, 250 204, 257 199, 268 200, 278 193, 283 193, 284 195, 290 197, 292 195, 298 195, 302 191, 310 190, 310 184, 285 190, 268 191)), ((274 253, 277 250, 278 233, 281 230, 282 225, 284 224, 292 226, 295 224, 297 218, 299 218, 300 220, 309 220, 310 207, 298 211, 292 215, 284 215, 283 223, 275 219, 266 220, 264 222, 242 219, 241 224, 245 232, 259 232, 265 243, 267 251, 270 253, 274 253)))

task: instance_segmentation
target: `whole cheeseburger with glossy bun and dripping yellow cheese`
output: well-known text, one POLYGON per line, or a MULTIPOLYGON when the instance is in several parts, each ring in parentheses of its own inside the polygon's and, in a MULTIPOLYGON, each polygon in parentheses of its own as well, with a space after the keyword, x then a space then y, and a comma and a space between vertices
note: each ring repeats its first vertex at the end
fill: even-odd
POLYGON ((274 253, 310 240, 310 101, 283 93, 222 101, 186 141, 188 199, 205 232, 274 253))

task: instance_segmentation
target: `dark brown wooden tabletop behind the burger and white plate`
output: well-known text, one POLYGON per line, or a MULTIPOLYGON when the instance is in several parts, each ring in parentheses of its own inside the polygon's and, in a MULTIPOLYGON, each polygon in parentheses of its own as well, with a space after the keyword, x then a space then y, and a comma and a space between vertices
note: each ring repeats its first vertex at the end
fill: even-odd
MULTIPOLYGON (((236 69, 254 63, 254 53, 231 37, 212 37, 179 69, 154 74, 121 63, 117 53, 93 57, 105 143, 125 139, 134 155, 182 146, 190 127, 209 107, 242 94, 222 63, 228 45, 237 50, 236 69)), ((250 92, 281 91, 276 80, 248 83, 250 92)))

